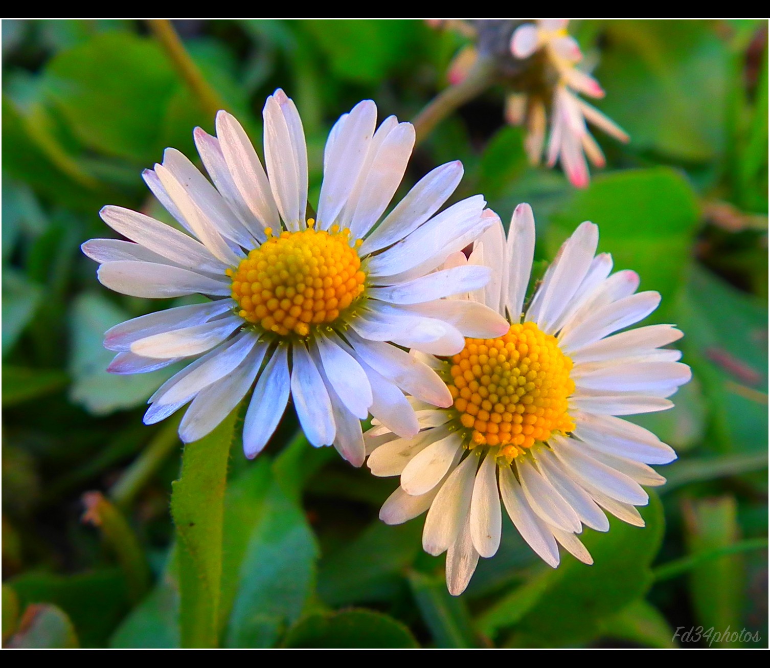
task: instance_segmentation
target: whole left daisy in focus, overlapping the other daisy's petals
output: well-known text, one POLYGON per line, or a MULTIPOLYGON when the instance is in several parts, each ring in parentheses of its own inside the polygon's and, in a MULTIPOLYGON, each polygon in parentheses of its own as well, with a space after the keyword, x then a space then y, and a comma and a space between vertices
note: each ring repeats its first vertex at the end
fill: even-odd
POLYGON ((112 327, 105 347, 117 354, 109 371, 143 373, 197 357, 152 395, 146 424, 192 401, 179 435, 195 441, 256 381, 243 426, 247 457, 264 447, 291 395, 310 442, 333 444, 360 465, 359 420, 369 411, 410 436, 417 418, 403 391, 437 406, 453 401, 427 364, 393 343, 454 354, 466 336, 507 328, 481 304, 442 299, 482 287, 490 270, 434 272, 497 217, 481 196, 437 213, 462 176, 454 162, 424 176, 377 225, 403 178, 414 129, 395 116, 375 129, 371 100, 333 126, 317 215, 307 217, 296 106, 277 90, 263 118, 266 170, 226 112, 216 117, 216 137, 195 131, 213 183, 175 149, 146 170, 149 188, 186 232, 120 206, 102 210, 105 223, 130 240, 83 244, 101 264, 103 285, 135 297, 210 298, 112 327))

